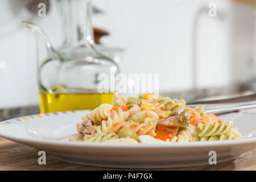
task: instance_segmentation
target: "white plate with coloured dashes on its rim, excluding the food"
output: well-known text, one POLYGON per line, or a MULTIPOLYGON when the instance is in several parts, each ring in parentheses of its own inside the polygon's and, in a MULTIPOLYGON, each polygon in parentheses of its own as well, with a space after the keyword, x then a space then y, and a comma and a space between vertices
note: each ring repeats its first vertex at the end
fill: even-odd
MULTIPOLYGON (((170 168, 209 164, 209 151, 216 151, 217 163, 237 158, 256 146, 256 138, 241 140, 168 143, 104 144, 68 142, 76 133, 75 123, 89 111, 68 111, 32 115, 0 122, 0 136, 44 150, 65 162, 115 168, 170 168)), ((256 130, 256 114, 240 112, 222 115, 234 119, 243 135, 256 130)))

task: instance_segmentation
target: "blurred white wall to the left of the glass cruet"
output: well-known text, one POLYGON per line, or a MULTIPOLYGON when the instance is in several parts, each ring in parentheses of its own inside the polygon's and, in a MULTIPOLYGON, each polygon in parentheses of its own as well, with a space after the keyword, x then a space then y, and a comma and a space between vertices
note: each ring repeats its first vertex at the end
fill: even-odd
POLYGON ((35 38, 31 30, 22 27, 22 20, 39 24, 53 45, 60 43, 60 18, 54 6, 51 14, 39 18, 18 2, 0 2, 0 108, 38 104, 35 38), (13 8, 20 9, 13 12, 13 8))

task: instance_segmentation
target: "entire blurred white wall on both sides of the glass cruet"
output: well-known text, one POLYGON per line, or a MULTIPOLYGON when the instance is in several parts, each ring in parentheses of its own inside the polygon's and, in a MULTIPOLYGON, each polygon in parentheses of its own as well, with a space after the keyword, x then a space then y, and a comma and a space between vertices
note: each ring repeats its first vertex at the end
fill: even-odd
MULTIPOLYGON (((20 20, 31 19, 39 24, 53 46, 58 46, 61 38, 56 7, 53 6, 47 17, 39 18, 27 14, 25 10, 11 14, 9 10, 12 6, 8 2, 0 2, 0 12, 10 17, 16 27, 12 29, 11 24, 10 30, 7 28, 3 31, 2 27, 5 26, 0 26, 0 108, 38 103, 35 40, 29 30, 20 26, 20 20), (4 64, 9 71, 1 68, 4 64)), ((122 72, 159 73, 160 90, 187 90, 193 86, 193 22, 200 7, 208 9, 212 2, 216 3, 217 13, 224 14, 224 18, 210 18, 208 14, 199 18, 197 58, 200 71, 196 74, 197 86, 223 86, 232 80, 230 65, 234 42, 230 32, 234 28, 233 7, 248 16, 254 11, 253 7, 222 0, 94 0, 94 4, 105 14, 93 16, 93 24, 110 31, 109 36, 102 38, 102 43, 126 47, 120 63, 122 72)), ((7 23, 6 19, 0 18, 0 23, 7 23)), ((245 30, 245 35, 246 29, 241 28, 245 30)), ((250 36, 247 34, 246 39, 250 39, 250 36)), ((250 46, 250 43, 244 44, 250 46)))

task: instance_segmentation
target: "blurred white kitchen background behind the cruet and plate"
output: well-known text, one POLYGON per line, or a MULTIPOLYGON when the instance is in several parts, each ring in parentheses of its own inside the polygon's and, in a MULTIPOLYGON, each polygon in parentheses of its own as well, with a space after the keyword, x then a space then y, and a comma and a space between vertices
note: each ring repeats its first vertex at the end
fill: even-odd
MULTIPOLYGON (((39 17, 34 3, 0 2, 0 121, 39 113, 34 35, 40 26, 53 47, 61 44, 57 1, 39 17)), ((224 98, 256 90, 253 0, 93 0, 97 47, 123 73, 159 73, 160 94, 187 101, 224 98), (217 16, 209 16, 209 5, 217 16), (100 38, 100 39, 99 39, 100 38)))

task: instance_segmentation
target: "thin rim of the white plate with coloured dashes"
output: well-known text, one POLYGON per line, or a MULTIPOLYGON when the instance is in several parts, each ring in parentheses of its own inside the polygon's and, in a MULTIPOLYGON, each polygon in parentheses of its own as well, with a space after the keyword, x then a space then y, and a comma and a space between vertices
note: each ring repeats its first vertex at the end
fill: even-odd
MULTIPOLYGON (((35 115, 47 115, 47 114, 71 114, 76 113, 76 111, 90 111, 90 110, 73 110, 73 111, 59 111, 59 112, 52 112, 52 113, 40 113, 40 114, 32 114, 26 115, 24 117, 18 117, 13 119, 7 119, 2 122, 16 122, 17 119, 20 118, 29 118, 34 117, 35 115)), ((51 115, 48 115, 51 117, 51 115)), ((42 117, 39 117, 42 118, 42 117)), ((3 125, 2 127, 5 127, 3 125)), ((66 147, 98 147, 98 148, 105 148, 105 147, 120 147, 120 148, 152 148, 152 147, 159 147, 159 148, 193 148, 193 147, 223 147, 223 146, 236 146, 236 145, 243 145, 243 144, 255 144, 256 146, 256 137, 254 138, 243 138, 237 140, 217 140, 217 141, 203 141, 203 142, 181 142, 181 143, 100 143, 100 142, 69 142, 69 141, 56 141, 56 140, 49 140, 49 139, 33 139, 33 138, 19 138, 15 137, 15 135, 10 134, 3 134, 0 131, 0 137, 12 140, 18 143, 34 143, 34 144, 47 144, 49 146, 66 146, 66 147)))

